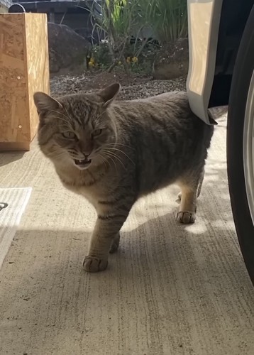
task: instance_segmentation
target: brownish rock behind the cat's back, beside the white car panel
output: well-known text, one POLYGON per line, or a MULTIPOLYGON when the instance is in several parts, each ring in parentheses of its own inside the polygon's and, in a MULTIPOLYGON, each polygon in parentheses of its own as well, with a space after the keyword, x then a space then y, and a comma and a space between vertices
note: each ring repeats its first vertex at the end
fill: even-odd
POLYGON ((189 68, 189 44, 187 38, 163 45, 153 63, 153 78, 172 80, 187 75, 189 68))

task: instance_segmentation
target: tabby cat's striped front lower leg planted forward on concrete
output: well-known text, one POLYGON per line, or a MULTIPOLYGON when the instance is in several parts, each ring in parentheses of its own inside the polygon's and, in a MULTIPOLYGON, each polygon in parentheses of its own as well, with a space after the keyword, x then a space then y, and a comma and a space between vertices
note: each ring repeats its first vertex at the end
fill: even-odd
POLYGON ((84 258, 85 271, 96 273, 106 269, 109 252, 112 253, 118 248, 119 231, 128 217, 128 212, 98 215, 90 241, 89 254, 84 258))

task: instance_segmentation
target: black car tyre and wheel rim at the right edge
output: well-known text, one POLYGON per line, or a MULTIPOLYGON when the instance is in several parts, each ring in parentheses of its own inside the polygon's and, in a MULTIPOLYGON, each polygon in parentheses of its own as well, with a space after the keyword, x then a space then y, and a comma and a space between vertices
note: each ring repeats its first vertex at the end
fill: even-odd
POLYGON ((233 219, 254 285, 254 6, 245 26, 228 103, 227 164, 233 219))

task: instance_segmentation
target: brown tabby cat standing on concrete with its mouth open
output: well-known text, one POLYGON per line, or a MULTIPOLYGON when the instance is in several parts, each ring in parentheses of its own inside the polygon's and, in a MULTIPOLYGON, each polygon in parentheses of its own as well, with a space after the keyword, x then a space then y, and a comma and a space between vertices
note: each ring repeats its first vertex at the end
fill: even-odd
POLYGON ((139 197, 177 183, 176 219, 193 223, 214 126, 195 116, 185 92, 117 101, 114 83, 92 94, 34 94, 38 143, 68 189, 97 213, 84 270, 103 271, 139 197))

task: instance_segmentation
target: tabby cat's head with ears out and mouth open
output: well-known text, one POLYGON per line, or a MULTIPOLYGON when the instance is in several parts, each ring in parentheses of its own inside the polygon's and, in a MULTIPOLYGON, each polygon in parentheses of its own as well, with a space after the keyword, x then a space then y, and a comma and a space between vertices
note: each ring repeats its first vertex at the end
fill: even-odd
POLYGON ((43 153, 55 164, 72 164, 79 170, 104 163, 107 148, 116 143, 114 121, 106 109, 119 89, 113 84, 96 95, 70 95, 58 101, 35 93, 43 153))

